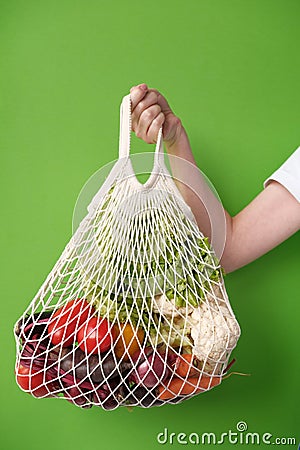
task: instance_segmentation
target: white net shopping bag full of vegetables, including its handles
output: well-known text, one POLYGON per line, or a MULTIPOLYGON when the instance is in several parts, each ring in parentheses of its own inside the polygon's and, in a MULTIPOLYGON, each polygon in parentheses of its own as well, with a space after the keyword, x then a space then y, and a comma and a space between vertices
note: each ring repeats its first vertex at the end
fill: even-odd
POLYGON ((178 403, 220 384, 240 328, 221 267, 165 164, 150 178, 119 160, 15 325, 16 379, 35 397, 82 408, 178 403))

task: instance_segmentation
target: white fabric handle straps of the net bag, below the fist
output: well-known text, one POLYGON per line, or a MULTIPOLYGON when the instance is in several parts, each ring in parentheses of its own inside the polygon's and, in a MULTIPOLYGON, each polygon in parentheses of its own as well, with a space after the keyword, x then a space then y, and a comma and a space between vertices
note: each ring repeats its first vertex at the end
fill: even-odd
MULTIPOLYGON (((128 158, 130 155, 130 134, 131 134, 131 99, 130 94, 123 97, 120 107, 120 138, 119 138, 119 159, 128 158)), ((159 129, 155 147, 154 168, 160 166, 164 161, 164 149, 162 128, 159 129)))

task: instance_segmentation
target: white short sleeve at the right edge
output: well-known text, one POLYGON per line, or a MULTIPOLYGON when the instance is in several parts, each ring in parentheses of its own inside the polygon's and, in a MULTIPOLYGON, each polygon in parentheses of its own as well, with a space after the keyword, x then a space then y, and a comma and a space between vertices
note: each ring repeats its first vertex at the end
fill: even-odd
POLYGON ((300 147, 264 182, 271 180, 282 184, 300 202, 300 147))

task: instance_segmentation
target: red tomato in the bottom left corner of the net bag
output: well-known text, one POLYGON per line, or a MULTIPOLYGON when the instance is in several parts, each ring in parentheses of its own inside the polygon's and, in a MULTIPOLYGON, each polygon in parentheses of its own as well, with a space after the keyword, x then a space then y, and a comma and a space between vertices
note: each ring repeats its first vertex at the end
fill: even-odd
POLYGON ((17 368, 17 383, 25 391, 29 391, 34 397, 45 397, 49 391, 44 385, 43 373, 37 373, 29 367, 19 364, 17 368))

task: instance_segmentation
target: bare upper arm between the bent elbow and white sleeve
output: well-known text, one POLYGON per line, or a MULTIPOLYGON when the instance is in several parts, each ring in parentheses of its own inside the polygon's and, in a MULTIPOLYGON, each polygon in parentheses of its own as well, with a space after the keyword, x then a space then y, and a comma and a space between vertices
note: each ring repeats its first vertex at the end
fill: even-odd
POLYGON ((300 228, 300 203, 284 186, 272 181, 232 218, 221 259, 232 272, 264 255, 300 228))

